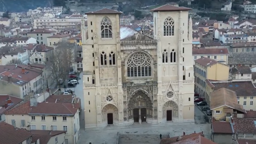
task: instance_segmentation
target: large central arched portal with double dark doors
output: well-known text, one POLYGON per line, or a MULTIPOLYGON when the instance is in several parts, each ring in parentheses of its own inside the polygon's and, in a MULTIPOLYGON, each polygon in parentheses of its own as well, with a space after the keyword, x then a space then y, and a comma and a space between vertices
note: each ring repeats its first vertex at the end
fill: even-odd
POLYGON ((146 122, 153 119, 153 103, 148 94, 137 90, 128 102, 129 119, 134 122, 146 122))

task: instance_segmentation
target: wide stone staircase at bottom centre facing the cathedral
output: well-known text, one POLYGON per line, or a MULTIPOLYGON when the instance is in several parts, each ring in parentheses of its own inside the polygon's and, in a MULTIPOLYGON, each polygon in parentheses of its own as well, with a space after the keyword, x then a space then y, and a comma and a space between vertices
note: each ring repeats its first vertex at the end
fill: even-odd
MULTIPOLYGON (((159 144, 160 134, 120 134, 118 144, 159 144)), ((162 134, 162 139, 168 138, 162 134)))

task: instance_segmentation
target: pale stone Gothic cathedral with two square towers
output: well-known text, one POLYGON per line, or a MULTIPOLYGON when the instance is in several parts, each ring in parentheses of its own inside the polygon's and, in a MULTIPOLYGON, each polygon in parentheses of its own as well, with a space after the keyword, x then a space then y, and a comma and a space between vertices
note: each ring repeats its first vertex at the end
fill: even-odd
POLYGON ((151 10, 152 37, 120 27, 119 11, 85 13, 85 128, 194 121, 189 10, 169 4, 151 10))

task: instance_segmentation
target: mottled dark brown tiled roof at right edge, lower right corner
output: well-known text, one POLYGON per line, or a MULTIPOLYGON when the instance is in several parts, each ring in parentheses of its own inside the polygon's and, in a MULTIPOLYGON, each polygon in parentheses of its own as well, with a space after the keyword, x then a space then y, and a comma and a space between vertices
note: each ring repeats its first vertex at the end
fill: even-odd
POLYGON ((256 121, 256 119, 234 118, 234 132, 256 134, 256 127, 253 121, 256 121))

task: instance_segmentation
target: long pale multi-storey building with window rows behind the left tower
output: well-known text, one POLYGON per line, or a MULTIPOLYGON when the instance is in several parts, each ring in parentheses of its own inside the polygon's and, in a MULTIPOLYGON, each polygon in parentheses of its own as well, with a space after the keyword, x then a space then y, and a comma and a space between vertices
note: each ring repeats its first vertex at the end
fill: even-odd
POLYGON ((71 15, 66 18, 35 18, 34 28, 55 28, 64 29, 66 27, 74 27, 81 23, 83 15, 71 15))

